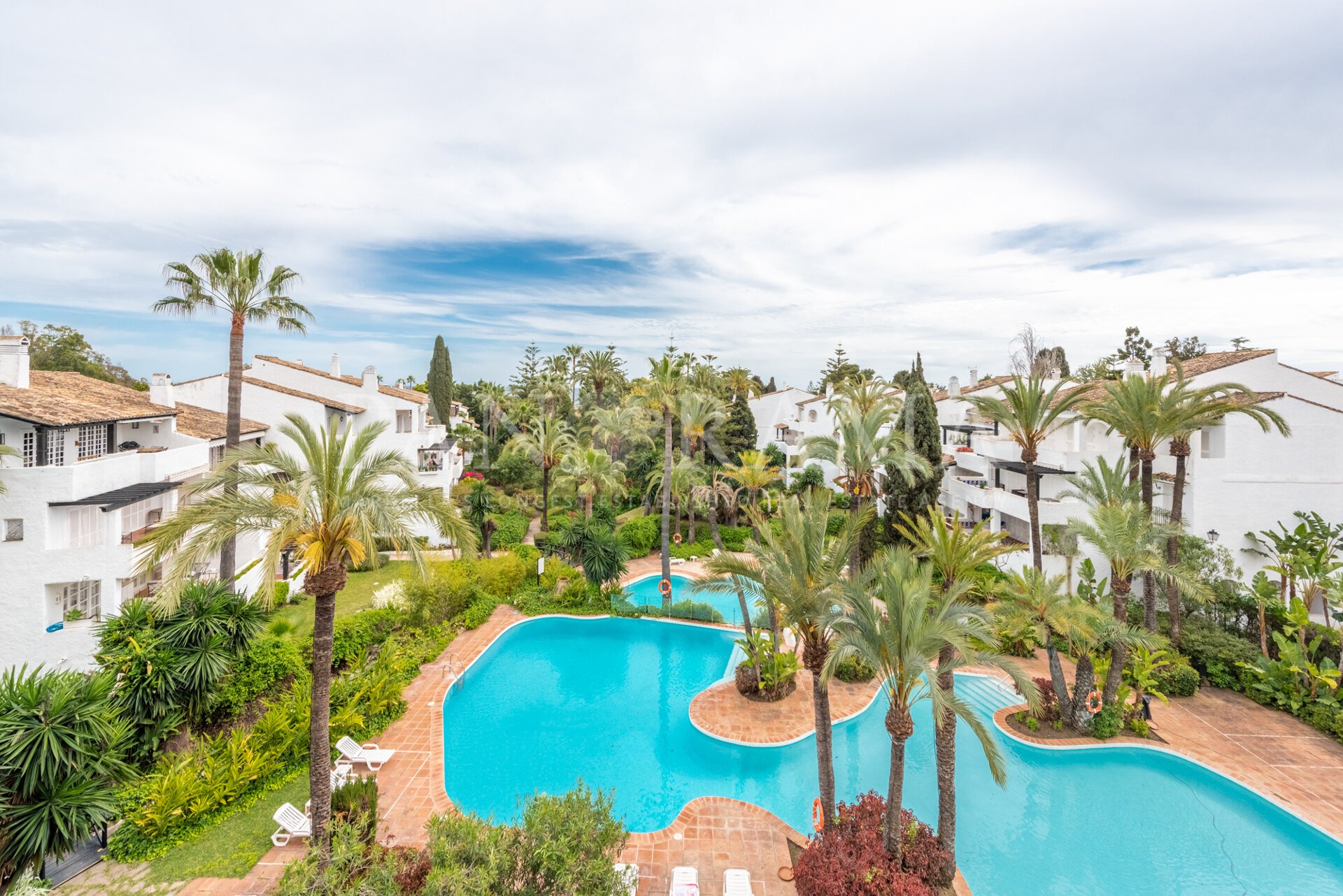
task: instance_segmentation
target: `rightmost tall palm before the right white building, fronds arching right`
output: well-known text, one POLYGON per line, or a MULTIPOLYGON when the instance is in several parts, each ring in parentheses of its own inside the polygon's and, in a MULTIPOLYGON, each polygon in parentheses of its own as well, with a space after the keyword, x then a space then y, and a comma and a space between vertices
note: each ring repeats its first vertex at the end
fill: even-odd
MULTIPOLYGON (((1162 398, 1160 413, 1163 428, 1170 436, 1170 455, 1175 459, 1175 482, 1171 487, 1171 523, 1180 526, 1185 520, 1185 484, 1189 478, 1189 440, 1205 427, 1218 424, 1232 414, 1245 414, 1264 432, 1277 429, 1283 436, 1291 436, 1292 428, 1281 414, 1264 406, 1264 398, 1238 382, 1217 382, 1209 386, 1194 386, 1185 378, 1185 372, 1175 363, 1175 382, 1162 398)), ((1179 533, 1166 541, 1166 562, 1174 566, 1179 562, 1179 533)), ((1179 590, 1170 582, 1166 586, 1166 609, 1171 622, 1171 644, 1180 641, 1179 590)))

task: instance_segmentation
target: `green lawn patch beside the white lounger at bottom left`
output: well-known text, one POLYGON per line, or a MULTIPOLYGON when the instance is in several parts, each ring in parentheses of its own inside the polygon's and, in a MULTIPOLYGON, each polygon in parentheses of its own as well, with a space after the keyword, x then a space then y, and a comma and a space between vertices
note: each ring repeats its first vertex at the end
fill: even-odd
POLYGON ((200 832, 149 862, 145 880, 158 884, 196 877, 244 876, 270 850, 270 836, 277 828, 271 816, 286 802, 298 809, 308 802, 308 769, 279 790, 263 795, 250 809, 200 832))

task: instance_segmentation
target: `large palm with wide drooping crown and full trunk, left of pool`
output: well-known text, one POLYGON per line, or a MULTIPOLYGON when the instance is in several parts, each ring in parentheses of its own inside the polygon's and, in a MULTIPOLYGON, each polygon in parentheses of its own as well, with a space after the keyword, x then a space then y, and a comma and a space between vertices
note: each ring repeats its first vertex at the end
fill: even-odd
POLYGON ((322 861, 330 852, 330 673, 336 594, 348 566, 377 562, 377 538, 410 555, 426 570, 415 524, 431 524, 461 550, 475 546, 475 531, 443 498, 419 484, 415 467, 396 451, 376 451, 384 424, 337 433, 334 423, 314 431, 289 414, 281 435, 298 445, 289 455, 275 445, 239 448, 192 490, 192 502, 145 539, 140 571, 163 563, 160 601, 172 606, 193 563, 238 534, 261 538, 262 602, 274 598, 282 554, 298 547, 304 590, 313 597, 313 702, 309 728, 309 786, 313 841, 322 861))

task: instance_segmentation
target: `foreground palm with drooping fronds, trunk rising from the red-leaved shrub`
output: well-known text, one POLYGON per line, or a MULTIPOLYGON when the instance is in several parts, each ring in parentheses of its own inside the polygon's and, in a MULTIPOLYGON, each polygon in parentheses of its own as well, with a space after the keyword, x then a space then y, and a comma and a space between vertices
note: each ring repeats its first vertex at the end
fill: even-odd
MULTIPOLYGON (((975 644, 995 642, 991 620, 982 606, 963 600, 964 592, 962 583, 939 593, 932 583, 931 565, 917 562, 907 549, 888 550, 877 554, 861 574, 845 581, 842 613, 831 624, 835 638, 826 659, 825 677, 833 676, 845 660, 860 659, 877 671, 886 695, 890 777, 882 838, 886 850, 896 856, 902 840, 905 740, 915 732, 911 708, 916 703, 932 703, 935 723, 947 712, 959 716, 979 739, 994 781, 999 786, 1007 781, 997 740, 968 703, 943 689, 935 665, 948 644, 955 656, 968 663, 988 661, 975 644)), ((1014 667, 1006 668, 1013 673, 1014 667)), ((1034 684, 1019 673, 1013 677, 1027 702, 1037 704, 1039 695, 1034 684)))

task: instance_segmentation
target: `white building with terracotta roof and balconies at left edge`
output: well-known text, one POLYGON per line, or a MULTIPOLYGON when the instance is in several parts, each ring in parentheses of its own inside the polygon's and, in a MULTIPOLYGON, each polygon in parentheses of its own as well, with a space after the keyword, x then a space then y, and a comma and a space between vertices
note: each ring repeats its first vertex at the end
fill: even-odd
MULTIPOLYGON (((28 369, 28 339, 0 337, 0 665, 87 668, 93 628, 154 575, 134 543, 177 508, 179 488, 223 453, 224 416, 175 404, 164 374, 137 392, 28 369)), ((243 439, 263 424, 243 421, 243 439)), ((239 543, 238 566, 257 546, 239 543)), ((218 575, 218 558, 197 570, 218 575)), ((255 582, 243 582, 244 589, 255 582)))

